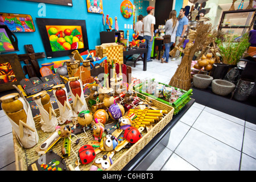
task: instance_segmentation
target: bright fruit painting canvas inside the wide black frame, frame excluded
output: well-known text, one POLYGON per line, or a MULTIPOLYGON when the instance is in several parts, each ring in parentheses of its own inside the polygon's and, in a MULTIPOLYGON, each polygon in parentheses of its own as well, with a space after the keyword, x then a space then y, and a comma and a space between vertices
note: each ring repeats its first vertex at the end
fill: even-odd
POLYGON ((52 52, 84 48, 81 26, 46 26, 52 52))

